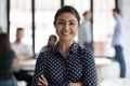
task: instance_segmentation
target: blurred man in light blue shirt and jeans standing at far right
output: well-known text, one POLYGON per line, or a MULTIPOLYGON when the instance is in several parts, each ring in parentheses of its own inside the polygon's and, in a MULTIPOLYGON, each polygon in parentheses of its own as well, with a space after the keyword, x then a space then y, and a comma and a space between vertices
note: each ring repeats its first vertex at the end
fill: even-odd
POLYGON ((116 20, 114 28, 112 45, 115 48, 115 59, 119 62, 120 66, 120 77, 126 77, 126 62, 123 58, 123 33, 125 25, 122 17, 120 16, 120 10, 114 9, 113 16, 116 20))

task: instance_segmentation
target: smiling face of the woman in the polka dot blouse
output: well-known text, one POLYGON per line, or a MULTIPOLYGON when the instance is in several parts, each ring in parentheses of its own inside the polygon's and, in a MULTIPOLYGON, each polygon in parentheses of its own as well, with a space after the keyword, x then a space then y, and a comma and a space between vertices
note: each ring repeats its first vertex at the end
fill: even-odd
POLYGON ((62 13, 55 23, 61 41, 73 41, 78 31, 78 20, 72 13, 62 13))

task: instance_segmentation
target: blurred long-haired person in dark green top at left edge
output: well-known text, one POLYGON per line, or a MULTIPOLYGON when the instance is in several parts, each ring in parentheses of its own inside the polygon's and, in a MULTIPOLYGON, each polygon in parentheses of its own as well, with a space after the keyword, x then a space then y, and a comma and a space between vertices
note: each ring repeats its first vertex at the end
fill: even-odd
POLYGON ((0 33, 0 86, 17 86, 13 75, 14 58, 8 33, 0 33))

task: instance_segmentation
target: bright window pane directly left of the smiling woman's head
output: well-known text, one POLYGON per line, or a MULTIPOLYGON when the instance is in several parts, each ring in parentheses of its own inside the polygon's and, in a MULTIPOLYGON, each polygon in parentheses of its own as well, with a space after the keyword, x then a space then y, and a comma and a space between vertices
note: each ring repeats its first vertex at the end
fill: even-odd
POLYGON ((40 52, 42 46, 47 45, 49 35, 55 34, 53 20, 56 10, 61 8, 60 4, 60 0, 36 0, 36 54, 40 52))

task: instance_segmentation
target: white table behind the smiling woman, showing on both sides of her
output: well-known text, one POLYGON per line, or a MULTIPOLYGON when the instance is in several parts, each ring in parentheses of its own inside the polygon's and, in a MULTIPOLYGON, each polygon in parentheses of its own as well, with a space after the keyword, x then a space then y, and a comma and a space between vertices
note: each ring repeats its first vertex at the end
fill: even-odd
MULTIPOLYGON (((95 58, 99 86, 101 86, 101 81, 102 81, 102 76, 101 76, 102 67, 108 66, 110 63, 112 63, 112 61, 107 58, 95 58)), ((20 61, 18 64, 15 66, 15 68, 27 70, 27 71, 34 71, 35 70, 35 64, 36 64, 36 59, 31 59, 31 60, 27 60, 27 61, 20 61)))

